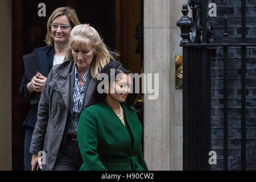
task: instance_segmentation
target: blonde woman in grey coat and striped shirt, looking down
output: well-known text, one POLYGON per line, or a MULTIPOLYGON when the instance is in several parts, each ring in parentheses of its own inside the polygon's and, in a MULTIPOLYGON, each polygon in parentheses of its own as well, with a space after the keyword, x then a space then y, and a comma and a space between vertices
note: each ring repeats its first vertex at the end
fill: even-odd
POLYGON ((32 169, 79 170, 82 158, 77 142, 77 123, 82 109, 92 103, 96 78, 114 60, 98 32, 89 24, 73 28, 67 60, 52 68, 38 106, 32 135, 32 169), (39 151, 44 151, 42 164, 39 151))

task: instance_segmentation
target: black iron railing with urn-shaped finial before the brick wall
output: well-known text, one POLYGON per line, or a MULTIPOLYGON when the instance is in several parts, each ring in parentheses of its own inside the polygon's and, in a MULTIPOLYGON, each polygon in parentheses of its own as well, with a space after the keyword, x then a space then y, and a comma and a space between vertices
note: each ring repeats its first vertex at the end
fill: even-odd
POLYGON ((228 170, 228 49, 241 47, 241 169, 246 169, 246 1, 241 1, 241 43, 228 43, 228 18, 224 17, 223 43, 213 43, 213 28, 208 19, 208 1, 188 1, 193 19, 177 22, 183 47, 183 169, 209 170, 210 151, 210 57, 216 48, 224 49, 224 135, 223 169, 228 170), (192 32, 192 41, 190 38, 192 32))

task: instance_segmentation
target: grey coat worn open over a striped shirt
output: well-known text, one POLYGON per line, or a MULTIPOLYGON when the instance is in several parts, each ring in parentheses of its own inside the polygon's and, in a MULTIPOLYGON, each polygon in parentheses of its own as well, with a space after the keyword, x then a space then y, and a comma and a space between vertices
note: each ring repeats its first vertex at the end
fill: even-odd
MULTIPOLYGON (((44 151, 43 170, 52 170, 61 155, 73 114, 74 62, 55 65, 47 77, 38 105, 38 119, 32 135, 30 152, 44 151)), ((96 80, 88 74, 84 107, 92 103, 96 80)))

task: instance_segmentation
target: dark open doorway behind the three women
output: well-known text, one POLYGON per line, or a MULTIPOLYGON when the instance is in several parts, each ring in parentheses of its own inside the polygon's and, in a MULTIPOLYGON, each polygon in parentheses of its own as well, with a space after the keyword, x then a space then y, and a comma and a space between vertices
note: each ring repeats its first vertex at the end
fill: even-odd
MULTIPOLYGON (((29 101, 18 95, 24 67, 22 56, 37 47, 46 46, 46 23, 51 13, 61 6, 77 11, 81 23, 89 23, 100 33, 110 49, 121 52, 121 62, 133 72, 141 73, 143 56, 135 53, 135 29, 142 19, 141 1, 35 0, 12 1, 12 161, 13 170, 23 170, 24 130, 22 125, 30 110, 29 101), (39 17, 39 3, 46 4, 46 17, 39 17), (136 6, 136 7, 134 7, 136 6), (138 6, 138 7, 137 7, 138 6), (129 40, 129 41, 127 41, 129 40)), ((141 96, 140 96, 141 97, 141 96)), ((141 107, 141 106, 140 106, 141 107)), ((141 107, 142 108, 142 107, 141 107)), ((143 110, 141 112, 143 114, 143 110)), ((143 122, 143 116, 139 116, 143 122)))

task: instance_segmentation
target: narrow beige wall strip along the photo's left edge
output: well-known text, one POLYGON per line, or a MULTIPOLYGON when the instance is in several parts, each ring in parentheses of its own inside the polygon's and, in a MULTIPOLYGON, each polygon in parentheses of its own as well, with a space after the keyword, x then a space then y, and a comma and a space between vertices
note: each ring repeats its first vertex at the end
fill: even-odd
POLYGON ((0 1, 0 170, 11 170, 11 1, 0 1))

